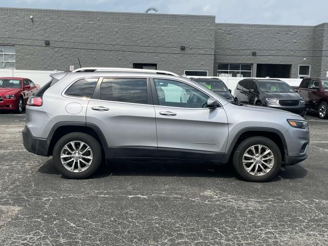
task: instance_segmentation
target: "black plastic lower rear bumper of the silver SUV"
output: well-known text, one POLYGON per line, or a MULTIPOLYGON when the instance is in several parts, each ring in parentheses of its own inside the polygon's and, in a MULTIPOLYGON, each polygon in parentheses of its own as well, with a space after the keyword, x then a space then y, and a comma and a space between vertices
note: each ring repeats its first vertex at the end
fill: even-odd
POLYGON ((27 127, 22 131, 22 134, 23 144, 27 151, 36 155, 49 156, 47 139, 33 137, 27 127))

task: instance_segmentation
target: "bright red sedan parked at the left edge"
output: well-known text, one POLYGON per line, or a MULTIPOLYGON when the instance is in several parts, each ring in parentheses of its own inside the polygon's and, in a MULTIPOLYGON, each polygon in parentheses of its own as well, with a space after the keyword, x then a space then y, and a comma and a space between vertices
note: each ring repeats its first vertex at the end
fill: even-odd
POLYGON ((38 89, 39 86, 28 78, 0 78, 0 110, 15 110, 21 113, 28 98, 38 89))

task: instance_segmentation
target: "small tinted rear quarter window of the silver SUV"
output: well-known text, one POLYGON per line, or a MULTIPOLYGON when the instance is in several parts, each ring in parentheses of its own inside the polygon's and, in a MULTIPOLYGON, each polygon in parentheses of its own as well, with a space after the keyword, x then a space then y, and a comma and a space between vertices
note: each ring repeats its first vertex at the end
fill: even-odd
POLYGON ((84 78, 77 80, 68 90, 66 95, 90 98, 96 87, 98 78, 84 78))

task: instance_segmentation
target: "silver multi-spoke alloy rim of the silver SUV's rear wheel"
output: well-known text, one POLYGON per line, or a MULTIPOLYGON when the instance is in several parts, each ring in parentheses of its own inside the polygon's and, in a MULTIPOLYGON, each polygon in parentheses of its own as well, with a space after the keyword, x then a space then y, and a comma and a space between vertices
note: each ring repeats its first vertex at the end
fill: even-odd
POLYGON ((61 163, 71 172, 87 170, 91 165, 92 159, 92 150, 83 141, 71 141, 60 152, 61 163))

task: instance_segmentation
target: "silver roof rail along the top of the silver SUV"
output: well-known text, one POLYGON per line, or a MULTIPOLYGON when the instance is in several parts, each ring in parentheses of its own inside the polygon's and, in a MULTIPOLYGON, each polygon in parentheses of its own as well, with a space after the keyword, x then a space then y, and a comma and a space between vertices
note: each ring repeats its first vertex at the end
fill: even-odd
POLYGON ((152 69, 135 69, 135 68, 78 68, 72 71, 72 73, 77 72, 138 72, 138 73, 157 73, 157 74, 165 74, 172 75, 176 77, 180 77, 180 75, 176 73, 172 73, 169 71, 162 70, 152 70, 152 69))

